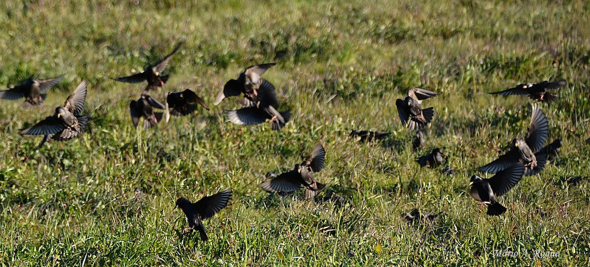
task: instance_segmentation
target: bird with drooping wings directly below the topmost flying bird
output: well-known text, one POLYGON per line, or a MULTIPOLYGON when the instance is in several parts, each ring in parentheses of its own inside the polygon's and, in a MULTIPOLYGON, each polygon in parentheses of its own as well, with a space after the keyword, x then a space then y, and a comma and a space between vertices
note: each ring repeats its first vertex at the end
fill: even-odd
POLYGON ((133 126, 137 127, 137 124, 139 124, 139 118, 141 117, 143 117, 143 128, 148 129, 156 126, 156 124, 162 120, 162 113, 153 112, 152 108, 165 110, 166 106, 148 94, 142 94, 137 101, 132 100, 129 104, 129 109, 131 111, 133 126))

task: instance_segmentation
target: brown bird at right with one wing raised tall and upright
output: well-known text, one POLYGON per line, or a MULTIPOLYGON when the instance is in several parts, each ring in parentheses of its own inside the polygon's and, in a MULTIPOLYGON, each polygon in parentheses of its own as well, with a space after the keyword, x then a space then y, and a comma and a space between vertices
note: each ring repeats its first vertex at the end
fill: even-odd
POLYGON ((542 148, 549 134, 549 121, 539 106, 535 104, 532 107, 533 114, 525 139, 513 139, 510 150, 480 167, 481 172, 497 173, 517 162, 525 166, 525 176, 535 175, 545 168, 547 155, 542 148))

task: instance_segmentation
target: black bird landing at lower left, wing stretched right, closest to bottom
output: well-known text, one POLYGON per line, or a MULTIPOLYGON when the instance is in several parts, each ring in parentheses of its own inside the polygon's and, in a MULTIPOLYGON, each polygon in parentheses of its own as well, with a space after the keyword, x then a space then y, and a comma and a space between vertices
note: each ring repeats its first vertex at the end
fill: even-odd
POLYGON ((207 231, 205 231, 205 226, 203 226, 202 220, 209 219, 213 217, 215 213, 218 213, 219 210, 223 209, 227 206, 228 201, 231 198, 231 190, 225 189, 215 195, 203 197, 201 200, 191 203, 188 199, 184 197, 179 198, 176 200, 176 207, 180 207, 182 212, 186 215, 186 220, 188 220, 188 228, 187 229, 196 229, 199 231, 199 235, 201 235, 201 240, 207 241, 207 231))

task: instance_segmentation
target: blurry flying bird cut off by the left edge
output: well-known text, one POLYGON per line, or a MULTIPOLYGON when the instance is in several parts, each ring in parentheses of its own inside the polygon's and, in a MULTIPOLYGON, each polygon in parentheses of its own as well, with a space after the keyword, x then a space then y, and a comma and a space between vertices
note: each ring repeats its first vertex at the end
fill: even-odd
POLYGON ((0 98, 17 100, 24 97, 23 106, 37 106, 45 100, 45 91, 59 83, 63 77, 61 75, 47 80, 30 78, 22 84, 0 91, 0 98))

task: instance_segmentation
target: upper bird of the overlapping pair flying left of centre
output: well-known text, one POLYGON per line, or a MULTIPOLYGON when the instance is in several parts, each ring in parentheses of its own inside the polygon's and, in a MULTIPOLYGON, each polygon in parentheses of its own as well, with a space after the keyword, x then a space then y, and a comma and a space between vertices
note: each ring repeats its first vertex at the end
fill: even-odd
MULTIPOLYGON (((232 79, 225 83, 223 90, 219 91, 219 94, 217 94, 217 98, 215 99, 214 103, 215 106, 221 103, 221 101, 226 97, 232 97, 240 94, 244 94, 244 96, 250 100, 257 98, 259 93, 258 88, 260 88, 264 81, 261 79, 261 76, 274 65, 276 65, 276 63, 260 64, 246 68, 246 70, 240 74, 238 80, 232 79)), ((273 106, 277 105, 273 104, 273 106)))

